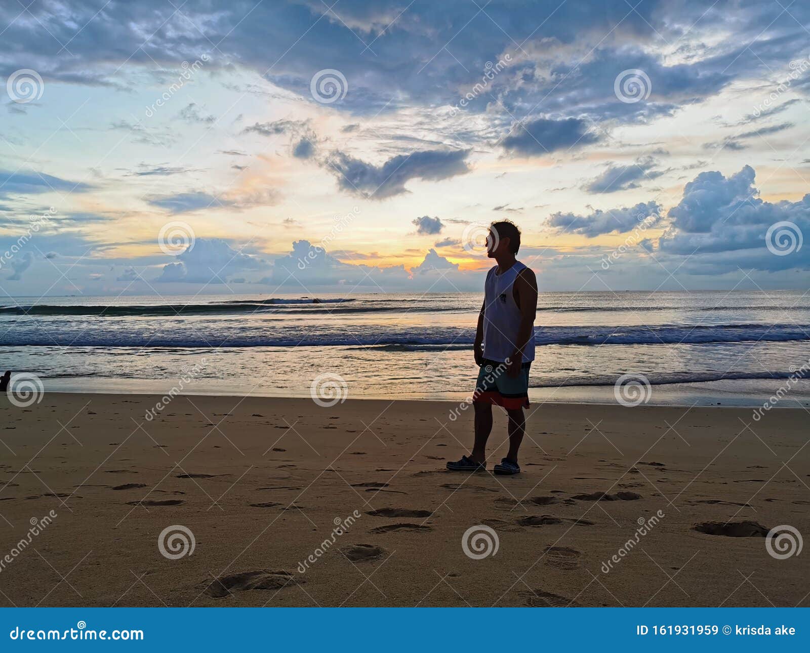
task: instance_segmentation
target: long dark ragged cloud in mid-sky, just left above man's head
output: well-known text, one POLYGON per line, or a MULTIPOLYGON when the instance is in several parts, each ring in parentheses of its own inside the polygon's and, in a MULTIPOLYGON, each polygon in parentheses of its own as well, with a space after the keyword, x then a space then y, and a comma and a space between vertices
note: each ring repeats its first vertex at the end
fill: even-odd
POLYGON ((400 154, 382 165, 374 165, 338 151, 326 160, 326 169, 335 173, 340 189, 370 199, 384 199, 407 193, 405 184, 411 179, 439 181, 468 173, 470 152, 423 150, 400 154))

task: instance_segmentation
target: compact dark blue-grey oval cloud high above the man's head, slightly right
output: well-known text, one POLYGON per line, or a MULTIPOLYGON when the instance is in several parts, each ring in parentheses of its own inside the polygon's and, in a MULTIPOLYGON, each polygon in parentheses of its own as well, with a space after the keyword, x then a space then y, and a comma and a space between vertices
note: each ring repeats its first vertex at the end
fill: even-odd
POLYGON ((518 156, 544 156, 557 150, 596 143, 598 140, 596 134, 589 131, 588 124, 579 118, 537 118, 530 122, 516 123, 509 135, 501 141, 501 146, 518 156))

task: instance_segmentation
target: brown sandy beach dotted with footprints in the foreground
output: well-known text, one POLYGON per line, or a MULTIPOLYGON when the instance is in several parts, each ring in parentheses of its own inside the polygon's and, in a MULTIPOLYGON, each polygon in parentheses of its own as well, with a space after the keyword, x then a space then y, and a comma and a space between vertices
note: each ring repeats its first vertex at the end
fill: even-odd
POLYGON ((3 402, 3 605, 808 606, 804 409, 535 404, 501 477, 445 471, 456 403, 158 399, 3 402))

